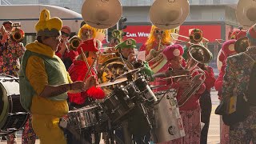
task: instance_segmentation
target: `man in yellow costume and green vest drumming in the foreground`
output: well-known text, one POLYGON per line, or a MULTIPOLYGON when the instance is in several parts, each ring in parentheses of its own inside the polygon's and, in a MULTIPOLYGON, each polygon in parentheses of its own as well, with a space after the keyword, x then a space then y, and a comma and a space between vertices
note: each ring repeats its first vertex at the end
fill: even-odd
POLYGON ((26 45, 19 76, 22 106, 30 110, 34 132, 42 144, 66 144, 58 126, 59 118, 68 113, 66 92, 82 92, 96 85, 94 77, 71 82, 62 60, 55 55, 61 28, 60 18, 50 18, 50 11, 42 10, 35 25, 37 40, 26 45))

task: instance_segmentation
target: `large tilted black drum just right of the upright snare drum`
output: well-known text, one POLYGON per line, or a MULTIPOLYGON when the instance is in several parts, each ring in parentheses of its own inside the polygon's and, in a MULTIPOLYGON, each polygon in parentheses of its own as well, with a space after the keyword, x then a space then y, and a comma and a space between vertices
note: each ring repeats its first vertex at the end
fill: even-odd
POLYGON ((125 118, 126 114, 135 106, 126 88, 130 90, 132 85, 116 87, 110 96, 100 104, 112 122, 122 121, 122 118, 125 118))

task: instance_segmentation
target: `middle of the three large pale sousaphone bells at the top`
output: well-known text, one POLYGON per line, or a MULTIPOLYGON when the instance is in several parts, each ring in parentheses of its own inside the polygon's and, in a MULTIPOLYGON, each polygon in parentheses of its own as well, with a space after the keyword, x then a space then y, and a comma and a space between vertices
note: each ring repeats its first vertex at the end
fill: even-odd
POLYGON ((189 13, 188 0, 155 0, 150 7, 150 21, 160 29, 170 30, 181 26, 189 13))

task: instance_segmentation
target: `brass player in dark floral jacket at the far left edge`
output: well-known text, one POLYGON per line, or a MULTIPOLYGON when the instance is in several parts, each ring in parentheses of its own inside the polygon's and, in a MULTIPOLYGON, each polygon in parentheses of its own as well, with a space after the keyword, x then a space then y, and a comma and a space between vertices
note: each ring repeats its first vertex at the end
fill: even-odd
MULTIPOLYGON (((14 42, 10 38, 11 31, 14 30, 12 22, 6 21, 2 23, 0 40, 0 74, 5 73, 18 77, 18 70, 20 68, 19 58, 22 58, 25 48, 22 42, 14 42)), ((16 143, 15 134, 7 136, 7 143, 16 143)), ((31 126, 31 117, 28 118, 24 130, 22 132, 22 143, 35 143, 36 135, 31 126)))

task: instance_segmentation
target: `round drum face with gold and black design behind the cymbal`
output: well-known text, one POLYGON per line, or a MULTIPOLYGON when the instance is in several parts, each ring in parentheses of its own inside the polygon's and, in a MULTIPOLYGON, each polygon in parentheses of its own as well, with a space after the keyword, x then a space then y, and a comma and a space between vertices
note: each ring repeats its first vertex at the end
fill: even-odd
MULTIPOLYGON (((114 80, 114 78, 117 78, 119 75, 124 74, 127 70, 134 70, 134 66, 130 62, 128 62, 126 59, 123 59, 122 61, 122 58, 111 58, 102 63, 101 68, 98 70, 98 82, 110 82, 111 80, 114 80)), ((134 75, 134 79, 135 78, 136 75, 134 75)), ((120 86, 122 84, 123 83, 120 83, 120 86)), ((104 90, 106 95, 109 95, 114 90, 114 86, 104 86, 102 87, 102 90, 104 90)))

